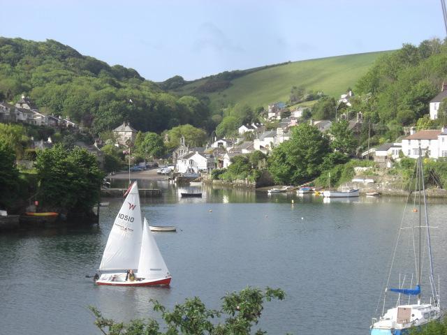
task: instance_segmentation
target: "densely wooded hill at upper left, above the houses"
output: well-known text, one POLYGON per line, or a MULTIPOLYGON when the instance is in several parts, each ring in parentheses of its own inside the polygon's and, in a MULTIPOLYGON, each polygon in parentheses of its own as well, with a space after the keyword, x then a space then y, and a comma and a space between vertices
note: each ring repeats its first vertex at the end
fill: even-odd
POLYGON ((0 38, 0 94, 7 101, 27 94, 40 110, 68 116, 96 134, 124 120, 160 133, 210 119, 198 99, 167 94, 131 68, 109 66, 55 40, 0 38))

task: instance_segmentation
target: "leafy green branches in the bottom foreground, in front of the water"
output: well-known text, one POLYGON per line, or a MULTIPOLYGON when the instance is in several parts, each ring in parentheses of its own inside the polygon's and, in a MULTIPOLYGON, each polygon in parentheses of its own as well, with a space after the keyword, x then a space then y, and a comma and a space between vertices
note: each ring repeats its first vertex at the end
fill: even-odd
MULTIPOLYGON (((161 313, 166 324, 163 327, 152 318, 148 321, 132 320, 126 324, 103 318, 101 312, 94 307, 90 307, 90 310, 96 317, 96 327, 105 335, 248 335, 261 318, 263 303, 272 299, 283 300, 284 297, 281 289, 260 290, 248 287, 240 292, 227 293, 222 298, 219 310, 206 308, 198 297, 194 297, 186 299, 183 304, 176 304, 173 311, 168 311, 159 301, 150 299, 154 311, 161 313)), ((267 333, 258 329, 256 334, 267 333)))

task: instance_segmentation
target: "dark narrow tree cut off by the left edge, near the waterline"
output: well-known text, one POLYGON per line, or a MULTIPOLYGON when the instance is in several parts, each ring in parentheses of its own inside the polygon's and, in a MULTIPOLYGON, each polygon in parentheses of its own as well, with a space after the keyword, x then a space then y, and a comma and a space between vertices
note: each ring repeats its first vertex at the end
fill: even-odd
POLYGON ((18 179, 14 148, 0 138, 0 208, 11 206, 19 187, 18 179))

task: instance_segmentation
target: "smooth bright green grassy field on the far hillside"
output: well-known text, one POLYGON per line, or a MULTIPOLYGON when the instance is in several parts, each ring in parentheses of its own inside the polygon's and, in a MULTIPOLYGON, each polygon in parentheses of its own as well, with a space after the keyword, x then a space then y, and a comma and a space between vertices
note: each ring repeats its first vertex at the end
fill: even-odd
MULTIPOLYGON (((235 103, 257 107, 275 101, 286 102, 293 86, 323 91, 328 96, 338 97, 348 87, 354 88, 357 80, 383 53, 386 52, 349 54, 265 68, 232 80, 230 87, 223 91, 206 95, 210 98, 213 109, 235 103)), ((203 78, 190 82, 174 93, 193 94, 193 90, 206 81, 207 78, 203 78)))

